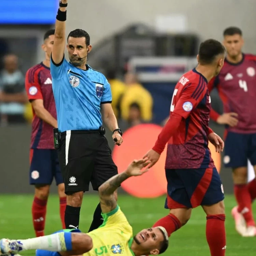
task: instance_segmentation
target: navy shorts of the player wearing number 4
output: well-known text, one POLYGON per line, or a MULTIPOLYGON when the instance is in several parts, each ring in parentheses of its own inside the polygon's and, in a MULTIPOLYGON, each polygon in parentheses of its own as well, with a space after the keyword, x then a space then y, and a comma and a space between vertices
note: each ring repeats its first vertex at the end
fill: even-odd
POLYGON ((248 159, 256 165, 256 133, 228 132, 225 139, 225 167, 247 167, 248 159))

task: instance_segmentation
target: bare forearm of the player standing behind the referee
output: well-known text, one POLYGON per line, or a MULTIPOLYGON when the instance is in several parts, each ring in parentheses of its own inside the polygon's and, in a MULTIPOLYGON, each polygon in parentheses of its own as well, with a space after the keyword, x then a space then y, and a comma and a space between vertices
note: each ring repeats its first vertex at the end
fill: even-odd
POLYGON ((44 102, 42 99, 33 100, 31 104, 35 114, 39 118, 54 128, 58 127, 57 120, 44 108, 44 102))

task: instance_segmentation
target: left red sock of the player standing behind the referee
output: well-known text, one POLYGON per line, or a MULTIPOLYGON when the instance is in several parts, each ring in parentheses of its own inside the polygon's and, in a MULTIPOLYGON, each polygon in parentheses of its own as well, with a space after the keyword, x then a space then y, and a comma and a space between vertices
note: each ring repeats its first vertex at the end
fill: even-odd
POLYGON ((34 197, 32 204, 32 218, 35 235, 37 237, 44 236, 46 204, 47 200, 41 200, 37 197, 34 197))

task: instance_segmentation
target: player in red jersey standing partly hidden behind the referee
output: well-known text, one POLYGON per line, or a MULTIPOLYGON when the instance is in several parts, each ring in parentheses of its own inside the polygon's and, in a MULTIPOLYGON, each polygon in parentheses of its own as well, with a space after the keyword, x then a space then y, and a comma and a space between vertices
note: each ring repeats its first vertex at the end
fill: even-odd
POLYGON ((57 113, 49 67, 54 32, 52 29, 45 33, 42 45, 45 59, 27 71, 25 81, 34 115, 30 144, 30 184, 35 185, 32 218, 37 237, 44 236, 46 204, 53 178, 58 185, 60 218, 62 228, 65 228, 66 195, 53 140, 53 128, 57 128, 57 113))

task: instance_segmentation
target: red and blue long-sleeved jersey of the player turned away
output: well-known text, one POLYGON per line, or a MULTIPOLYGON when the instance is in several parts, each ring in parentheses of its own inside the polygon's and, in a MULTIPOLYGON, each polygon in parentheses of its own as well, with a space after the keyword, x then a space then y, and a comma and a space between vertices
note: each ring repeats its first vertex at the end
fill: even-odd
POLYGON ((208 148, 211 99, 207 79, 193 69, 176 84, 170 118, 153 150, 162 153, 168 142, 166 169, 214 168, 208 148))

